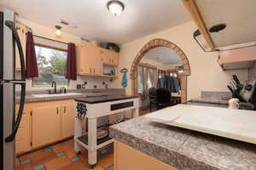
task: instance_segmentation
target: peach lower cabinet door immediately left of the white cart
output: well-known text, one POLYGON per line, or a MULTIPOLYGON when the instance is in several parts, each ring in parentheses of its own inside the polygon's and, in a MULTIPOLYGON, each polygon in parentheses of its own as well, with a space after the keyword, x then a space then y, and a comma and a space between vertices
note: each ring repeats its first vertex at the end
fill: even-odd
POLYGON ((62 139, 71 137, 74 135, 74 108, 73 102, 70 102, 67 105, 62 105, 62 139))

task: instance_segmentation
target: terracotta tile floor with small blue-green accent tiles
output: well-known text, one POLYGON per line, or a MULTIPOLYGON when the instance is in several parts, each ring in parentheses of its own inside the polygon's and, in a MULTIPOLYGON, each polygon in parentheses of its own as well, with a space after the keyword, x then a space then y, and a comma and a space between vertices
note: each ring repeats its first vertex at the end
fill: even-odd
MULTIPOLYGON (((94 170, 113 170, 113 150, 98 154, 94 170)), ((87 170, 87 151, 77 156, 73 150, 73 139, 51 145, 42 150, 16 159, 17 170, 87 170)))

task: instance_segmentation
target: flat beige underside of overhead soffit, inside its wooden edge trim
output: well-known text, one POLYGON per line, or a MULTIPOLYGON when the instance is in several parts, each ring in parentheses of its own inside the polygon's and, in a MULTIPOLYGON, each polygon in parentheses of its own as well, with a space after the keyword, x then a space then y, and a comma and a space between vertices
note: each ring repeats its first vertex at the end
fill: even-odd
POLYGON ((226 24, 223 31, 210 33, 215 47, 256 41, 255 0, 196 0, 207 30, 226 24))

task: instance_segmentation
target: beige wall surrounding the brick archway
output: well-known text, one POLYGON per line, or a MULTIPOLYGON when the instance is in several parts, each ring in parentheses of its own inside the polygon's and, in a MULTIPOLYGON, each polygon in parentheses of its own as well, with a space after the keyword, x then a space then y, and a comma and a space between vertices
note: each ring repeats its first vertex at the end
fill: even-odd
MULTIPOLYGON (((199 96, 202 90, 228 91, 226 85, 233 74, 236 74, 241 82, 245 82, 247 80, 247 70, 222 71, 217 63, 218 52, 203 52, 192 36, 195 30, 195 24, 188 22, 132 42, 126 42, 121 47, 119 67, 130 70, 131 62, 139 50, 143 48, 143 45, 154 38, 162 38, 176 43, 189 59, 191 76, 188 77, 188 99, 199 96)), ((126 93, 131 94, 130 78, 126 93)))

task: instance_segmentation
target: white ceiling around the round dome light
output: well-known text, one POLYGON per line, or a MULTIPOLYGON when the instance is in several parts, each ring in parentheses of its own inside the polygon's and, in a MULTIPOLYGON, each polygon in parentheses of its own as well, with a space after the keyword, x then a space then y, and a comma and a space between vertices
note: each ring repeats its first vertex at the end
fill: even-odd
POLYGON ((181 0, 121 1, 125 11, 118 17, 108 12, 108 0, 1 0, 0 6, 53 28, 67 20, 79 28, 62 31, 107 42, 129 42, 190 20, 181 0))

